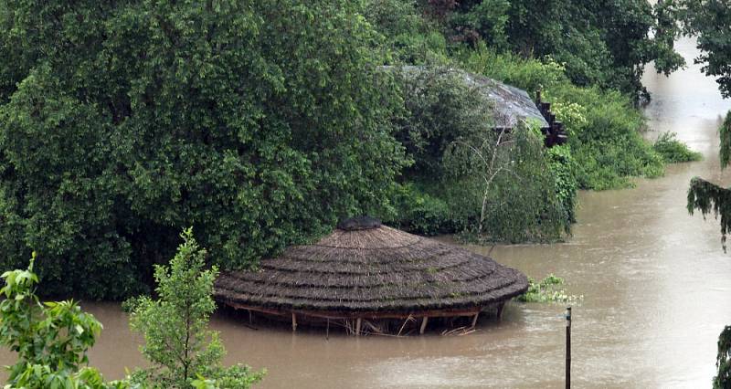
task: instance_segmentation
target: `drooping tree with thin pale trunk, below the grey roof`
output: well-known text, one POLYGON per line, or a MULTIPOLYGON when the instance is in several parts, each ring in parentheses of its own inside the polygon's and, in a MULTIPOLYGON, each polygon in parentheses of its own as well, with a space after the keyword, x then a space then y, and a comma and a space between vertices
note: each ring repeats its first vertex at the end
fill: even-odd
POLYGON ((458 139, 445 162, 459 173, 450 181, 450 198, 471 212, 468 234, 479 240, 517 243, 553 241, 569 223, 556 195, 543 135, 524 126, 514 131, 483 131, 458 139), (470 205, 471 204, 471 205, 470 205))

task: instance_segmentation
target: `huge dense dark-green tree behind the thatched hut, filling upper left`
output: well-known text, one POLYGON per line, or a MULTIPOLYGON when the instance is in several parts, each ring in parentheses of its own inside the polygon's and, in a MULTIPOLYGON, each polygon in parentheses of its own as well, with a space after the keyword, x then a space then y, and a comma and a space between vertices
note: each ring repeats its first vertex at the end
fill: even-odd
POLYGON ((225 267, 388 211, 397 103, 360 2, 0 1, 0 248, 121 298, 194 225, 225 267))

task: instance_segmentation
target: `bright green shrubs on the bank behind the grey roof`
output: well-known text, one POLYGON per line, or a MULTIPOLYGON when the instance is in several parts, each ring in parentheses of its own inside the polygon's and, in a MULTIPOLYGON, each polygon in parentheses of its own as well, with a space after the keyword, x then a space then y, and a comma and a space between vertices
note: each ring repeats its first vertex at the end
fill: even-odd
POLYGON ((645 118, 620 92, 573 85, 564 68, 544 61, 495 54, 487 47, 462 52, 465 67, 526 90, 543 90, 563 121, 576 160, 581 189, 610 189, 631 185, 632 176, 662 175, 662 156, 642 139, 645 118))

